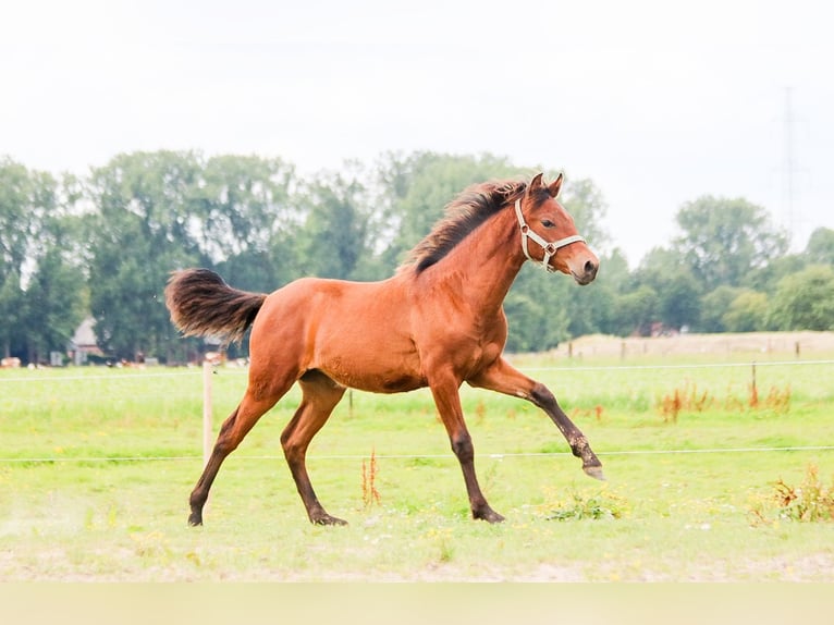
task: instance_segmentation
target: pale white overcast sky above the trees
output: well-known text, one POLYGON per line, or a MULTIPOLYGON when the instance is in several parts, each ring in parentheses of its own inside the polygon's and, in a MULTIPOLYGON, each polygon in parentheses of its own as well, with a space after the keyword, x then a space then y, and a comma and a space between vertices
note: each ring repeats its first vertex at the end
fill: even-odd
MULTIPOLYGON (((590 179, 635 267, 702 195, 834 228, 826 0, 4 0, 0 157, 490 152, 590 179)), ((567 206, 569 210, 569 206, 567 206)), ((593 242, 590 242, 593 246, 593 242)))

